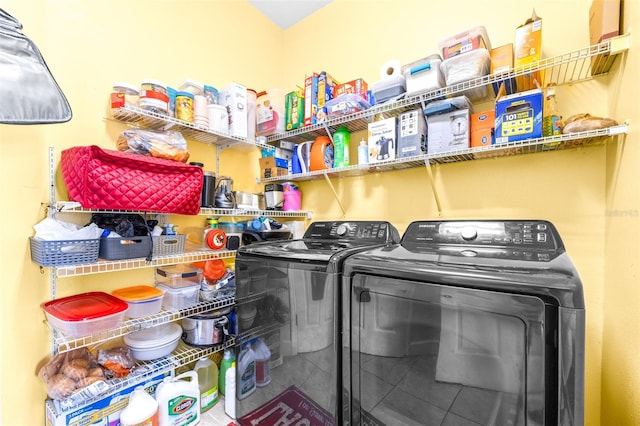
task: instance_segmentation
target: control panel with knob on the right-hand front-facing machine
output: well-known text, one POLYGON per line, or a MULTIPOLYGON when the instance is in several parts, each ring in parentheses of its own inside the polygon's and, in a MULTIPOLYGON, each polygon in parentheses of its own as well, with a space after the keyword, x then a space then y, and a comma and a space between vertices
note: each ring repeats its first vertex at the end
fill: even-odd
POLYGON ((544 220, 417 221, 407 228, 402 244, 564 251, 555 227, 544 220))

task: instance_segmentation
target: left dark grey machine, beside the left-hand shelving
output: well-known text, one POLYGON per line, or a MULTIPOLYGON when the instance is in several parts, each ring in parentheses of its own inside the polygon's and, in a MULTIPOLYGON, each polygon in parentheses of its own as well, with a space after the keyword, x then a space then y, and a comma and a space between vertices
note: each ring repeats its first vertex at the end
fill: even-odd
POLYGON ((354 253, 399 241, 389 222, 327 221, 311 223, 301 239, 239 248, 235 270, 240 424, 288 424, 286 419, 297 415, 311 424, 342 423, 342 352, 337 343, 342 341, 342 265, 354 253), (268 365, 259 364, 260 343, 269 349, 268 365), (248 362, 252 357, 255 384, 248 362), (282 407, 291 411, 284 413, 282 407))

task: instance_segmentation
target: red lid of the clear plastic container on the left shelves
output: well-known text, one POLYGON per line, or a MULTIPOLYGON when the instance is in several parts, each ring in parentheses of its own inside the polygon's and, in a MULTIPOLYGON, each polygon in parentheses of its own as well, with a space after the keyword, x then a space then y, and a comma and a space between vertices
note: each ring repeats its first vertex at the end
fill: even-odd
POLYGON ((76 294, 42 304, 42 309, 49 315, 69 322, 107 317, 128 308, 127 302, 101 291, 76 294))

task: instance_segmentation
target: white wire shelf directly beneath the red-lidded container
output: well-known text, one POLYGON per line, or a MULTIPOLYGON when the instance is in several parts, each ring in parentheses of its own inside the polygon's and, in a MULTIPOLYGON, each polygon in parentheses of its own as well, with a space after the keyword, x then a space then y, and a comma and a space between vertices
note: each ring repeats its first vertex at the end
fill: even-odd
POLYGON ((108 331, 92 334, 90 336, 68 338, 61 333, 52 333, 52 335, 57 347, 57 353, 67 352, 73 349, 103 343, 108 340, 142 330, 144 328, 155 327, 157 325, 177 321, 191 315, 233 306, 234 304, 234 298, 223 298, 219 300, 200 302, 194 306, 190 306, 188 308, 180 310, 162 310, 154 315, 149 315, 142 318, 130 318, 127 321, 124 321, 117 328, 112 328, 108 331))

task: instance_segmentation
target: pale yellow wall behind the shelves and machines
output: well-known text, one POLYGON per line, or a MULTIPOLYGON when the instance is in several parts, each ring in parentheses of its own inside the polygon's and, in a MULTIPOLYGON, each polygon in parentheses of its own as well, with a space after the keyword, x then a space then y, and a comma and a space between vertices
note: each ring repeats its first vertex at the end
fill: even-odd
MULTIPOLYGON (((624 3, 629 29, 639 24, 639 2, 624 3)), ((532 7, 543 18, 547 56, 589 44, 589 0, 490 4, 335 0, 283 31, 239 0, 5 0, 2 7, 23 23, 24 33, 42 51, 74 117, 57 125, 0 125, 2 424, 43 421, 45 389, 35 373, 50 352, 39 306, 50 298, 49 275, 30 261, 27 237, 44 217, 40 204, 48 200, 47 148, 55 147, 57 158, 70 146, 113 148, 125 128, 104 119, 113 82, 156 78, 177 85, 192 78, 217 87, 238 81, 288 91, 302 85, 305 74, 327 70, 339 80, 362 77, 371 83, 387 59, 407 63, 427 56, 436 51, 438 40, 467 27, 485 25, 494 46, 511 42, 513 29, 532 7)), ((613 77, 563 88, 566 95, 559 97, 565 115, 591 112, 632 119, 625 143, 435 166, 440 213, 423 168, 333 180, 347 218, 387 219, 401 232, 412 220, 438 216, 551 220, 585 287, 589 425, 640 423, 635 362, 640 336, 635 309, 640 302, 640 153, 633 130, 640 94, 632 80, 640 60, 633 47, 626 59, 613 77), (616 214, 627 210, 635 215, 616 214)), ((354 139, 353 154, 359 141, 354 139)), ((193 160, 215 168, 213 147, 190 142, 189 148, 193 160)), ((256 156, 256 150, 222 153, 220 172, 234 178, 234 189, 260 189, 254 179, 256 156)), ((59 177, 58 184, 62 186, 59 177)), ((314 219, 343 216, 325 182, 301 186, 303 208, 312 210, 314 219)), ((58 296, 110 290, 149 277, 142 270, 59 279, 58 296)))

